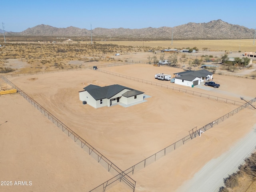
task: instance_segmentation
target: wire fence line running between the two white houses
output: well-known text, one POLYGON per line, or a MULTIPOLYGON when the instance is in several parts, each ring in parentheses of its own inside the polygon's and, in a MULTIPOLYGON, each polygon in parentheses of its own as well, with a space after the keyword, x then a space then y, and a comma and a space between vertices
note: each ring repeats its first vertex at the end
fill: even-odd
POLYGON ((114 73, 114 72, 110 72, 110 71, 106 71, 106 70, 102 70, 102 69, 98 69, 98 71, 106 73, 106 74, 110 74, 110 75, 113 75, 113 76, 126 78, 126 79, 129 79, 129 80, 146 83, 146 84, 149 84, 149 85, 159 86, 159 87, 162 87, 162 88, 166 88, 166 89, 170 89, 170 90, 174 90, 174 91, 178 91, 178 92, 183 92, 183 93, 186 93, 186 94, 192 94, 192 95, 195 95, 195 96, 200 96, 200 97, 204 97, 204 98, 208 98, 208 99, 213 99, 213 100, 216 100, 216 101, 219 101, 219 102, 231 103, 231 104, 234 104, 234 105, 244 104, 243 102, 240 102, 240 101, 230 100, 230 99, 227 99, 227 98, 222 98, 222 97, 213 96, 213 95, 209 95, 209 94, 205 94, 205 93, 200 93, 200 92, 196 92, 196 91, 192 91, 192 90, 187 90, 187 89, 183 89, 183 88, 169 86, 169 85, 166 85, 166 84, 161 84, 161 83, 156 83, 156 82, 152 82, 152 81, 148 81, 148 80, 143 80, 143 79, 140 79, 140 78, 126 76, 126 75, 122 75, 122 74, 118 74, 118 73, 114 73))

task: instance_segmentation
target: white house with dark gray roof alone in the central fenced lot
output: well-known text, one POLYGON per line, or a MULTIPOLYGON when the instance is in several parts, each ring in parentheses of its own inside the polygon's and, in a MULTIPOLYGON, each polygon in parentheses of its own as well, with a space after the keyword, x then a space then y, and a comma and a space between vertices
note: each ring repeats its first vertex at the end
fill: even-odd
POLYGON ((91 84, 79 92, 79 100, 94 108, 110 107, 118 102, 129 105, 143 101, 143 99, 144 92, 118 84, 104 87, 91 84))

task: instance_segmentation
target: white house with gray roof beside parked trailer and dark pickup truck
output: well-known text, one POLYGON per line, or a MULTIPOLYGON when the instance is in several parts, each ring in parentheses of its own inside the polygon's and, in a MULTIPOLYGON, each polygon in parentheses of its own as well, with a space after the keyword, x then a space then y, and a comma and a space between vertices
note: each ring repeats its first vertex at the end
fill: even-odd
POLYGON ((184 71, 174 73, 175 84, 192 87, 192 85, 198 85, 201 82, 205 82, 213 79, 213 73, 202 69, 198 71, 184 71))

